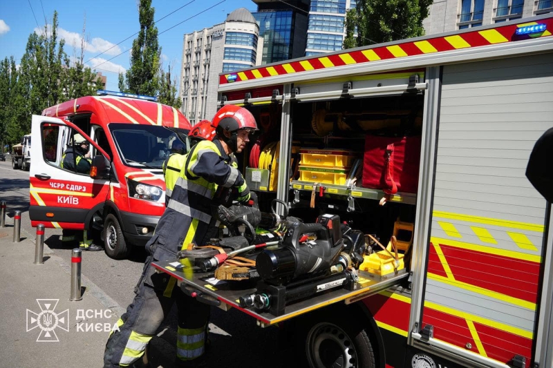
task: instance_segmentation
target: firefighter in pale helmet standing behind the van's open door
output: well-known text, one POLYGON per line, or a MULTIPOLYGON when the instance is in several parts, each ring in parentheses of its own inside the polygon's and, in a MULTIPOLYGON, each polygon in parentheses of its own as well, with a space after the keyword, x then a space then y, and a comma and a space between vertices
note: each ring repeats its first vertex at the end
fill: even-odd
MULTIPOLYGON (((89 151, 90 142, 88 142, 80 134, 73 136, 73 146, 69 146, 62 155, 62 163, 60 166, 75 173, 88 174, 91 172, 91 153, 89 151)), ((62 243, 73 242, 77 240, 78 234, 75 231, 62 231, 62 243)), ((100 245, 93 244, 88 230, 82 232, 82 238, 79 241, 79 248, 83 251, 101 251, 103 248, 100 245)))

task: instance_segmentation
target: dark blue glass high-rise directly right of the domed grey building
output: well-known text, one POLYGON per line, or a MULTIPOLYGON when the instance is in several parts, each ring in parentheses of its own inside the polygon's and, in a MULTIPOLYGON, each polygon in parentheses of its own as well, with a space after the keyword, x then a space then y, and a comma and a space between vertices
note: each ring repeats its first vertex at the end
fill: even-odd
POLYGON ((261 64, 303 57, 306 50, 309 0, 254 0, 252 12, 263 38, 261 64))

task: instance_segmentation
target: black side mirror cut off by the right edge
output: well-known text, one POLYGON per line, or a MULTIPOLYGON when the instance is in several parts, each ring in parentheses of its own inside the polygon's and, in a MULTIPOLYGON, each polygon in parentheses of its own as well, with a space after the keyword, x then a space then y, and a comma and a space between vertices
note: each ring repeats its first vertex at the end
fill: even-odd
POLYGON ((528 160, 526 177, 534 188, 553 202, 553 128, 547 130, 538 139, 528 160))

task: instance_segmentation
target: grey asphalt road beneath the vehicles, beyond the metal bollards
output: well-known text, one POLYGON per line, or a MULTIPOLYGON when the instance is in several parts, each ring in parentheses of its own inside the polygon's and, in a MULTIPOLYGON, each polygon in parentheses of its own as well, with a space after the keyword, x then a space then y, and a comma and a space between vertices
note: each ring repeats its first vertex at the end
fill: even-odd
MULTIPOLYGON (((0 200, 5 200, 7 216, 21 211, 21 238, 35 238, 30 226, 29 174, 13 170, 10 156, 0 162, 0 200)), ((63 246, 62 231, 46 229, 45 243, 56 255, 71 264, 71 246, 63 246)), ((129 260, 112 260, 103 251, 83 252, 82 274, 95 283, 106 295, 126 308, 133 300, 133 289, 142 272, 146 254, 143 249, 133 252, 129 260)), ((69 291, 69 285, 68 285, 69 291)), ((86 291, 85 291, 86 292, 86 291)), ((173 367, 176 345, 176 309, 162 323, 158 337, 151 340, 149 359, 152 367, 173 367)), ((207 355, 208 367, 297 367, 290 350, 277 344, 276 327, 262 329, 254 318, 241 311, 222 311, 212 308, 210 340, 212 347, 207 355)))

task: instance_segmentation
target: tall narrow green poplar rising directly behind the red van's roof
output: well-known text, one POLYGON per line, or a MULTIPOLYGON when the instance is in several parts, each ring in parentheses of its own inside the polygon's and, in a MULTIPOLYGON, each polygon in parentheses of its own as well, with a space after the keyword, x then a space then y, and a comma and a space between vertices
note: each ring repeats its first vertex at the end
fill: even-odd
POLYGON ((154 25, 151 0, 140 0, 138 20, 140 32, 133 41, 131 67, 126 71, 126 91, 137 95, 158 94, 161 48, 158 44, 158 28, 154 25))

